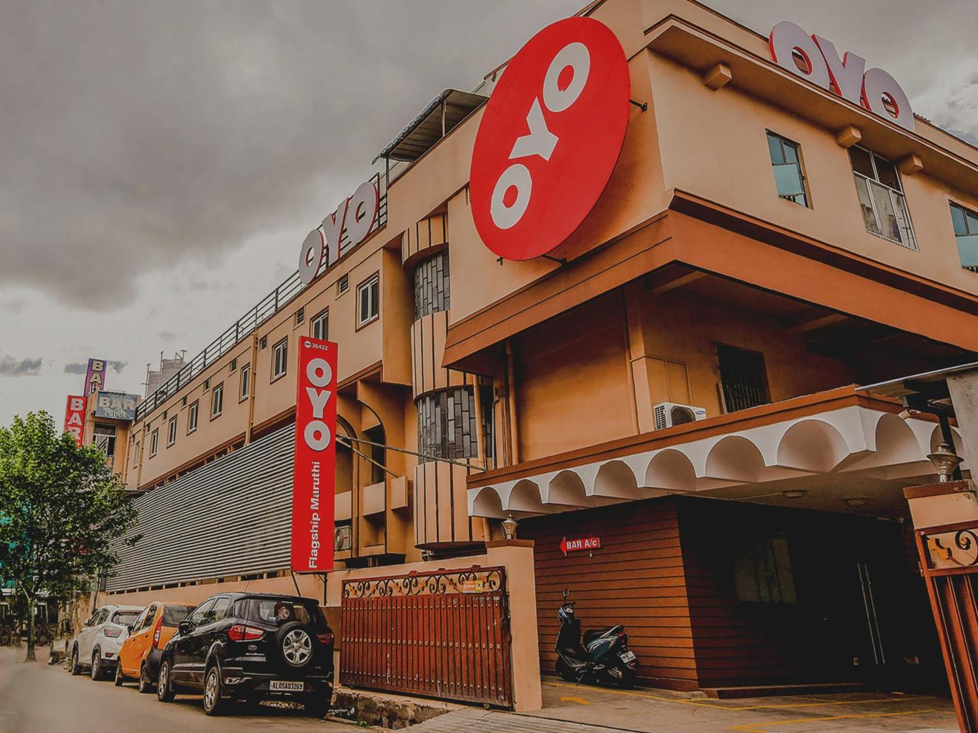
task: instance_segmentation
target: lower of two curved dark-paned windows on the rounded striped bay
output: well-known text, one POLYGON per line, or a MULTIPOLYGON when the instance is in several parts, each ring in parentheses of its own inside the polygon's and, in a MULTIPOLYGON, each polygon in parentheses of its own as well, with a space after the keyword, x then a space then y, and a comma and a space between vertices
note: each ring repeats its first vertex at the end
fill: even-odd
POLYGON ((418 452, 430 456, 428 460, 478 454, 471 387, 442 390, 418 401, 418 452))

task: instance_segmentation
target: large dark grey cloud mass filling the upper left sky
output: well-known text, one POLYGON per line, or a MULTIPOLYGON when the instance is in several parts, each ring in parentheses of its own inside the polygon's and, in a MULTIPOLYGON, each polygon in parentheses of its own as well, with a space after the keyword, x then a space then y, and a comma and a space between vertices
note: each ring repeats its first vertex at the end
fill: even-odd
POLYGON ((311 228, 443 88, 581 2, 8 3, 0 285, 111 310, 311 228))

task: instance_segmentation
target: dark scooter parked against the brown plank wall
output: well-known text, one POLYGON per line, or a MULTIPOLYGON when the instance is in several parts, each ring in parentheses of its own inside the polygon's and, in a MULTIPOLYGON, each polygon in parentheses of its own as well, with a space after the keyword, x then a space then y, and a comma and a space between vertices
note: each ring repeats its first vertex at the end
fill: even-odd
POLYGON ((623 625, 591 629, 581 643, 581 622, 574 617, 574 602, 567 600, 556 612, 560 630, 556 634, 556 673, 568 682, 593 680, 628 688, 635 684, 639 660, 628 648, 623 625))

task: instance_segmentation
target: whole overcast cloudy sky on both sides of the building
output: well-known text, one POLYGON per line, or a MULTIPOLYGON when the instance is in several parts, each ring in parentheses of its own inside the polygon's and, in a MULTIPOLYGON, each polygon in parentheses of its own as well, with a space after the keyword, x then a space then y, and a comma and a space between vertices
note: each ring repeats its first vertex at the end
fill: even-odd
MULTIPOLYGON (((0 0, 0 423, 61 420, 89 357, 143 392, 295 269, 446 87, 584 0, 0 0)), ((974 0, 712 0, 799 23, 978 137, 974 0)))

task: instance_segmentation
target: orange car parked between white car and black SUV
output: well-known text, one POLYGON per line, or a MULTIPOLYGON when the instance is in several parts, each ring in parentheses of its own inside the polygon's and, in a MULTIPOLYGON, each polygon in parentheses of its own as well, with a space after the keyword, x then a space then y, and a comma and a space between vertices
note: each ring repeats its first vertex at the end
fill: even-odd
POLYGON ((159 669, 160 653, 177 626, 195 606, 186 603, 157 601, 143 609, 129 629, 129 636, 119 649, 115 665, 115 686, 127 679, 139 680, 140 692, 152 692, 159 669))

